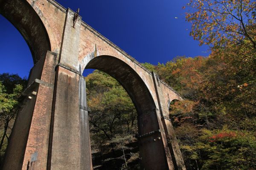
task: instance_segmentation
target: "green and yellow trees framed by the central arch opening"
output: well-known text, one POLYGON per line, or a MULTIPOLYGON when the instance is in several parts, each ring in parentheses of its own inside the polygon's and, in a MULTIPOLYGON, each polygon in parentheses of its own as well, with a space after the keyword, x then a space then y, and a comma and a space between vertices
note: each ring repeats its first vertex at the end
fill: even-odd
MULTIPOLYGON (((95 71, 87 76, 88 105, 91 108, 90 122, 110 140, 114 131, 134 133, 137 112, 127 92, 107 74, 95 71), (101 118, 101 119, 99 119, 101 118), (117 127, 120 125, 120 127, 117 127)), ((136 130, 135 130, 136 131, 136 130)))

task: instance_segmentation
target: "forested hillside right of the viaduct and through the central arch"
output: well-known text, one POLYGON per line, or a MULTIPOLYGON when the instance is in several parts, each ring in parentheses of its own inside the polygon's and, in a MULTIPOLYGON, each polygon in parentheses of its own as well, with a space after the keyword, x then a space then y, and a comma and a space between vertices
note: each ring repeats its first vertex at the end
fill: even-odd
MULTIPOLYGON (((255 57, 230 56, 223 48, 209 57, 143 65, 185 99, 171 104, 170 119, 188 170, 256 168, 255 57)), ((87 90, 95 163, 118 169, 138 162, 137 113, 128 94, 100 71, 87 76, 87 90)))

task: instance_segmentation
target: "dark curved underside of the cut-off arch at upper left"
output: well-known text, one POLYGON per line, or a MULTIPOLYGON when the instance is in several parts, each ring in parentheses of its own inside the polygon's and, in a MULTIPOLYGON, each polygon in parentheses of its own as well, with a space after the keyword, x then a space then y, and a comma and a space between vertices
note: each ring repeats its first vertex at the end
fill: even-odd
POLYGON ((26 0, 0 0, 0 14, 6 17, 29 45, 33 61, 44 57, 51 45, 40 17, 26 0))

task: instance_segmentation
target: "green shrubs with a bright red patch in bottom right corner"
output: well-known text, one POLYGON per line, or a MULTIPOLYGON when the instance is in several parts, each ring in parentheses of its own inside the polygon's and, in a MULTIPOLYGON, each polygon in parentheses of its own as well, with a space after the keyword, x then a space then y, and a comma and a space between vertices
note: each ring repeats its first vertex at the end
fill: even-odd
MULTIPOLYGON (((189 159, 198 162, 201 170, 247 170, 253 167, 256 145, 251 145, 243 133, 227 129, 200 131, 201 136, 191 139, 189 145, 181 145, 180 148, 189 159)), ((247 135, 250 140, 255 139, 252 134, 247 135)))

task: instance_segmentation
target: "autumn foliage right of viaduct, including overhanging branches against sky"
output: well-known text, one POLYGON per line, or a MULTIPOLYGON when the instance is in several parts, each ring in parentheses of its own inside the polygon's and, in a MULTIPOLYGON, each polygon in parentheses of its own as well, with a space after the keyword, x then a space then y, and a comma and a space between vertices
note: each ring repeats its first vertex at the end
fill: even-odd
POLYGON ((256 1, 190 0, 187 7, 191 36, 212 53, 155 66, 185 99, 171 103, 170 119, 186 168, 256 169, 256 1))

